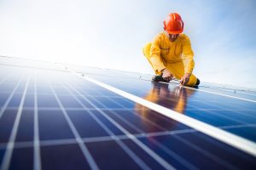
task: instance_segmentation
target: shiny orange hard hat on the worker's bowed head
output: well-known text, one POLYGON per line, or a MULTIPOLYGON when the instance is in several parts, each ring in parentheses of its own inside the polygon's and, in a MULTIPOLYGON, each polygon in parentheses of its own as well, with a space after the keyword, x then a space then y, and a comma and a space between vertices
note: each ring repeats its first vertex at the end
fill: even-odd
POLYGON ((164 29, 168 34, 180 34, 183 32, 183 20, 177 13, 171 13, 164 20, 164 29))

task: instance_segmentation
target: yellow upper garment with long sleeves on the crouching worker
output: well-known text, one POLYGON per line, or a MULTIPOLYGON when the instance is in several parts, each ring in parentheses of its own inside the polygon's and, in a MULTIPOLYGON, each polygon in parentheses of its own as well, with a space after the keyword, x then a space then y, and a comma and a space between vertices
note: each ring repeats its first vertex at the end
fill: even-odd
POLYGON ((184 72, 191 74, 195 66, 193 57, 194 53, 188 36, 180 34, 175 42, 171 42, 166 32, 161 32, 154 37, 149 54, 150 63, 156 72, 165 69, 165 63, 183 61, 184 72))

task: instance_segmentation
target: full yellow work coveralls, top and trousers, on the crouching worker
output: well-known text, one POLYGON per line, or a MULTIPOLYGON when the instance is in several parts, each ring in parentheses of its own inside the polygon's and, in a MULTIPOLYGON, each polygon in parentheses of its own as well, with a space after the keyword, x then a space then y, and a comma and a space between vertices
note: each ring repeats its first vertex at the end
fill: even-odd
MULTIPOLYGON (((166 32, 161 32, 154 37, 153 42, 148 42, 143 48, 143 54, 153 67, 155 74, 160 75, 163 69, 167 69, 177 79, 181 79, 184 73, 192 73, 195 62, 189 37, 180 34, 175 42, 169 40, 166 32)), ((197 78, 191 74, 187 86, 194 86, 197 78)))

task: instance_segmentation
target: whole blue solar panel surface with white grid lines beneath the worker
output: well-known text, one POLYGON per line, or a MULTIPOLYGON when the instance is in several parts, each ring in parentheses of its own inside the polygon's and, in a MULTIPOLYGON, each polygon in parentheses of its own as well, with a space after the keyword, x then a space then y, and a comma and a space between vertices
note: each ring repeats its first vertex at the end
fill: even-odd
POLYGON ((0 169, 256 167, 253 89, 0 59, 0 169))

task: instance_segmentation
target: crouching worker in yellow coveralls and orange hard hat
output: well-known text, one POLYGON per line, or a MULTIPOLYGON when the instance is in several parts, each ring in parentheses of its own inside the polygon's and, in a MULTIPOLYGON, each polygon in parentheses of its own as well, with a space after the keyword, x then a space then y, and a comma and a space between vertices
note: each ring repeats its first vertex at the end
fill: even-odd
POLYGON ((183 32, 183 20, 177 13, 164 20, 164 32, 154 37, 143 48, 143 54, 156 74, 155 82, 170 82, 176 78, 183 86, 197 86, 200 80, 192 74, 194 53, 189 37, 183 32))

